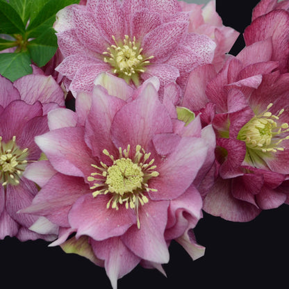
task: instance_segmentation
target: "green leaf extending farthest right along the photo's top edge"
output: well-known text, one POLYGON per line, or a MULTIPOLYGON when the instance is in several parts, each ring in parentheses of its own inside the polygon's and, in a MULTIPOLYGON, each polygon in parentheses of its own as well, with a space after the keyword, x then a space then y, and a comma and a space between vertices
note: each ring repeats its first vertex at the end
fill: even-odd
MULTIPOLYGON (((43 2, 41 2, 43 4, 43 2)), ((79 3, 79 0, 49 0, 42 6, 39 10, 38 15, 36 15, 27 27, 27 31, 33 31, 39 26, 52 26, 56 20, 56 13, 59 10, 69 6, 71 4, 79 3)), ((31 33, 29 33, 31 35, 31 33)))

